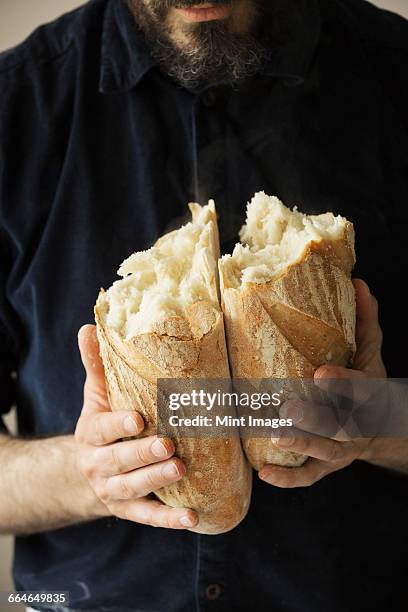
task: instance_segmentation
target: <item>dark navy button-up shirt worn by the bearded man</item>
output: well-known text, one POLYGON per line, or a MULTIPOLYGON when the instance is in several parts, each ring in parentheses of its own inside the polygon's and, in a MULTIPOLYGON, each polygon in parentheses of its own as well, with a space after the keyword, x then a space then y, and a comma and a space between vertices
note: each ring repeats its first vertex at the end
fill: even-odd
MULTIPOLYGON (((21 435, 74 431, 99 288, 209 197, 224 252, 258 190, 352 220, 389 374, 407 375, 408 24, 362 0, 279 2, 271 60, 235 87, 178 86, 122 0, 0 56, 0 408, 21 435)), ((408 480, 363 462, 294 490, 255 476, 229 533, 101 519, 17 537, 14 577, 81 609, 402 611, 407 508, 408 480)))

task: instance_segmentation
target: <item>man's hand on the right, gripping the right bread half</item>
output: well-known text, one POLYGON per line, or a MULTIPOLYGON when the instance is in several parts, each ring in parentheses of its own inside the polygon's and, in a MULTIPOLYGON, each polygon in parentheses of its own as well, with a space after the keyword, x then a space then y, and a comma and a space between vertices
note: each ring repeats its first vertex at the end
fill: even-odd
MULTIPOLYGON (((329 379, 387 376, 381 357, 382 332, 378 323, 377 300, 371 295, 364 281, 356 279, 353 284, 357 303, 357 352, 354 369, 324 365, 315 373, 316 382, 324 384, 324 381, 329 379)), ((310 435, 284 436, 275 443, 282 449, 306 455, 308 460, 298 468, 264 466, 259 477, 270 484, 283 488, 310 486, 327 474, 350 465, 356 459, 408 471, 407 441, 368 438, 341 441, 320 436, 317 407, 307 402, 286 402, 281 408, 280 416, 292 419, 299 430, 310 432, 310 435)))

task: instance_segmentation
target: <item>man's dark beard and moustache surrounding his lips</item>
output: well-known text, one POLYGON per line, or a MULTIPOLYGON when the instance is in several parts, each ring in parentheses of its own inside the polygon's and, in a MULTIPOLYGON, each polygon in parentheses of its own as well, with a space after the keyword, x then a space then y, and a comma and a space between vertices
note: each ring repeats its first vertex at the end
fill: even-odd
POLYGON ((265 0, 229 0, 243 3, 245 27, 231 14, 226 19, 183 22, 179 31, 166 19, 169 10, 192 7, 197 0, 126 1, 161 70, 187 89, 219 81, 237 83, 256 74, 271 56, 268 37, 259 27, 265 0))

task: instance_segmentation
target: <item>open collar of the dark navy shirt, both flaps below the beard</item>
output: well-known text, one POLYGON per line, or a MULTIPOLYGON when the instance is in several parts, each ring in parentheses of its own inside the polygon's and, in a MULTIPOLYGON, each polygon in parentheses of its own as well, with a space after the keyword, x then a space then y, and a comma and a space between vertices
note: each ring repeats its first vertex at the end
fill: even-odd
MULTIPOLYGON (((288 84, 297 85, 307 75, 320 36, 318 0, 274 0, 272 5, 271 23, 279 27, 271 35, 274 52, 262 74, 282 77, 288 84)), ((108 0, 102 29, 99 91, 129 91, 155 65, 156 60, 125 0, 108 0)))

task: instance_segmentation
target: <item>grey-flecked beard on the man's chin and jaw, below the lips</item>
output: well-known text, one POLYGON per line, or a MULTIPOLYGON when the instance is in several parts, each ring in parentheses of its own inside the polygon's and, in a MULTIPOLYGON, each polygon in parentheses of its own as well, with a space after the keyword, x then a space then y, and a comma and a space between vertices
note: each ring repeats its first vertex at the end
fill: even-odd
POLYGON ((164 19, 152 17, 142 0, 127 3, 161 70, 186 89, 219 81, 238 83, 259 72, 270 59, 271 51, 256 27, 251 33, 238 34, 231 32, 228 20, 194 24, 192 44, 183 49, 172 42, 164 19))

